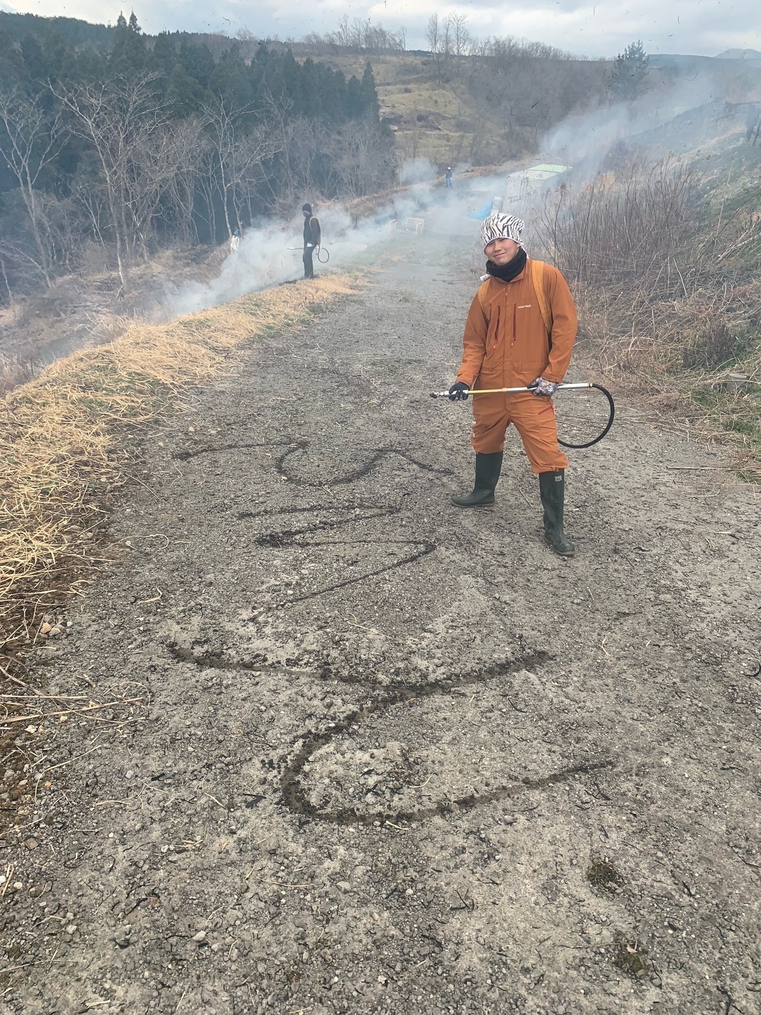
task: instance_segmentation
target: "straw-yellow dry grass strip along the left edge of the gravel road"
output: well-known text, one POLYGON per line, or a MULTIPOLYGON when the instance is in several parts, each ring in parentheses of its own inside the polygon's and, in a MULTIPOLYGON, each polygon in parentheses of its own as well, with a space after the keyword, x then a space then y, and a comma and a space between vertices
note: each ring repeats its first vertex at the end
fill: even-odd
POLYGON ((184 391, 219 378, 257 339, 355 291, 322 275, 167 325, 136 325, 68 356, 0 401, 0 665, 12 675, 103 561, 109 503, 137 477, 140 441, 184 391), (47 617, 47 619, 46 619, 47 617))

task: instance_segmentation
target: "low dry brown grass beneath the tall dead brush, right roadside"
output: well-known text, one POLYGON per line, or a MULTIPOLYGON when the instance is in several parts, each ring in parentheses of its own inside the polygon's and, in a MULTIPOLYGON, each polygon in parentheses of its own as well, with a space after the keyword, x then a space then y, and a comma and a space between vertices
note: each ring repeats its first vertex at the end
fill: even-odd
POLYGON ((739 474, 759 482, 761 346, 749 321, 761 314, 761 282, 714 283, 646 300, 635 286, 577 285, 581 344, 653 421, 731 449, 739 474), (748 383, 738 387, 737 373, 748 383))

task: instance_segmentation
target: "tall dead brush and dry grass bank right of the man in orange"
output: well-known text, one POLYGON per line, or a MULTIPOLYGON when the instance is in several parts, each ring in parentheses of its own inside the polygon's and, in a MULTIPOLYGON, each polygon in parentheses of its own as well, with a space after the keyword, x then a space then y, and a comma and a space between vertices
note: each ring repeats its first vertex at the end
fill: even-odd
POLYGON ((733 443, 761 479, 761 279, 748 257, 761 223, 755 191, 733 204, 712 211, 678 161, 639 164, 548 197, 544 239, 601 371, 672 425, 733 443))

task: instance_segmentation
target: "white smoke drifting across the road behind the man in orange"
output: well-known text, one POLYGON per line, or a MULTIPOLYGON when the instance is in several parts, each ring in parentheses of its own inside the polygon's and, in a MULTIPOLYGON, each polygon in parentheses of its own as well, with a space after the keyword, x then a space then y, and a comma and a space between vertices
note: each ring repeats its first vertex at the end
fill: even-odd
MULTIPOLYGON (((714 83, 704 75, 699 82, 677 80, 673 86, 633 103, 601 106, 570 116, 545 136, 537 161, 567 167, 572 171, 573 184, 582 185, 599 172, 608 152, 621 141, 634 145, 646 142, 645 150, 653 161, 670 151, 691 149, 703 136, 731 139, 734 131, 739 142, 742 113, 728 120, 721 112, 722 104, 710 106, 717 97, 715 92, 714 83), (691 110, 695 111, 694 118, 685 117, 691 110), (648 132, 654 133, 650 136, 648 132)), ((385 247, 399 241, 400 234, 413 234, 422 243, 427 239, 448 242, 466 259, 470 257, 478 273, 484 265, 478 240, 480 218, 489 210, 500 209, 525 219, 525 245, 531 254, 539 249, 542 203, 548 191, 566 181, 568 174, 532 174, 507 164, 500 173, 479 176, 467 165, 458 165, 455 186, 445 189, 436 167, 422 158, 406 162, 400 179, 406 186, 388 204, 360 220, 341 205, 316 206, 323 233, 322 256, 325 251, 330 255, 326 265, 318 263, 315 256, 318 272, 352 268, 360 260, 374 260, 385 247)), ((219 276, 209 283, 187 282, 179 291, 167 293, 164 314, 191 314, 300 278, 301 230, 300 215, 287 222, 263 221, 247 229, 239 249, 226 258, 219 276)))

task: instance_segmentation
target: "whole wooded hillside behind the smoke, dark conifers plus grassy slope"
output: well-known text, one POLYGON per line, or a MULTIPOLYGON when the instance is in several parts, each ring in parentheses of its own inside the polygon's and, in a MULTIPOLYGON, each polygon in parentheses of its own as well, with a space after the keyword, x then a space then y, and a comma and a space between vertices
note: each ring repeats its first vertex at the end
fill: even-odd
POLYGON ((0 300, 85 263, 125 287, 157 251, 377 193, 408 159, 529 156, 611 92, 609 62, 466 22, 433 14, 429 50, 408 53, 403 32, 346 17, 288 47, 148 37, 134 13, 112 27, 0 12, 0 300))

